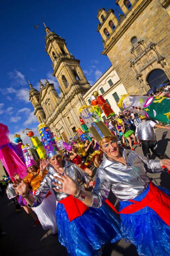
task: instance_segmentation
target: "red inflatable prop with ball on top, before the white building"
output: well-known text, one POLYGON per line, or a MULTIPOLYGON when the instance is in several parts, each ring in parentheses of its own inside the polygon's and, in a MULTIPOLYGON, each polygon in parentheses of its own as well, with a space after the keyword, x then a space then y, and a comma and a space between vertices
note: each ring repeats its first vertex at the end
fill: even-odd
POLYGON ((98 105, 103 110, 104 114, 108 118, 109 116, 113 116, 115 112, 113 109, 109 106, 109 104, 104 100, 102 95, 98 95, 98 92, 93 92, 93 96, 95 96, 95 99, 98 101, 98 105))

